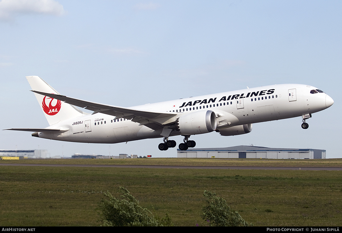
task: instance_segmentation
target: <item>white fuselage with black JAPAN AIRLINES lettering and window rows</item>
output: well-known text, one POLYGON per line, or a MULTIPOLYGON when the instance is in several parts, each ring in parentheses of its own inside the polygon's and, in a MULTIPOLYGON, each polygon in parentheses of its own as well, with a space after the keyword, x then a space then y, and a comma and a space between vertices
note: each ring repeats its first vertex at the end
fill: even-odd
MULTIPOLYGON (((175 112, 178 116, 195 111, 211 110, 220 116, 234 115, 238 121, 218 129, 237 125, 279 120, 312 114, 331 106, 333 100, 324 92, 310 93, 317 88, 300 84, 281 84, 206 96, 190 97, 131 107, 136 110, 175 112)), ((163 137, 162 129, 153 130, 137 122, 96 113, 65 120, 48 128, 69 129, 66 132, 39 132, 39 137, 83 143, 120 143, 163 137)), ((173 130, 170 136, 182 134, 173 130)))

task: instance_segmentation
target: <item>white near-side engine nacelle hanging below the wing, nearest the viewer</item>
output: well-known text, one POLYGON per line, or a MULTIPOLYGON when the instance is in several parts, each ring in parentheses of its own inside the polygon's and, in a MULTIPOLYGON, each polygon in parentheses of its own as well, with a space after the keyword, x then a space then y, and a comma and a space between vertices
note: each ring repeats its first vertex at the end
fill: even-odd
POLYGON ((179 117, 177 128, 185 135, 209 133, 216 129, 216 115, 210 110, 188 113, 179 117))

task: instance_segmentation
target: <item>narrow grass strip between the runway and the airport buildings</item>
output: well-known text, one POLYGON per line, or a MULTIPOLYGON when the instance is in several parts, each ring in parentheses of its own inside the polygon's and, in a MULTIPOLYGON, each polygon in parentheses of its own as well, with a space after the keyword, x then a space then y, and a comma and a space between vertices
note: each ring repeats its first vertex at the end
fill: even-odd
POLYGON ((0 163, 30 164, 96 164, 96 165, 184 165, 184 166, 283 166, 283 167, 342 167, 342 159, 21 159, 0 160, 0 163))

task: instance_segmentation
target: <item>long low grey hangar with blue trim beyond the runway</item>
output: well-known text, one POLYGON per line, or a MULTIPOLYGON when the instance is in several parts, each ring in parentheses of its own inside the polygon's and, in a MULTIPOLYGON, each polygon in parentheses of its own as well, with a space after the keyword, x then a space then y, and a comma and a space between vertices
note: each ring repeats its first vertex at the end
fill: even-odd
POLYGON ((177 158, 325 159, 325 156, 326 150, 261 146, 177 149, 177 158))

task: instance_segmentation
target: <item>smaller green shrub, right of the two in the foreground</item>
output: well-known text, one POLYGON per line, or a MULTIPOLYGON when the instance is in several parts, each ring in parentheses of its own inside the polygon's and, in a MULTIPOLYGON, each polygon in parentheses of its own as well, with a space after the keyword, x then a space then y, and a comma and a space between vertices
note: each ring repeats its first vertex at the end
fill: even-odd
POLYGON ((249 227, 252 223, 246 222, 237 211, 228 206, 226 200, 215 193, 204 191, 208 205, 202 207, 202 219, 213 227, 249 227))

